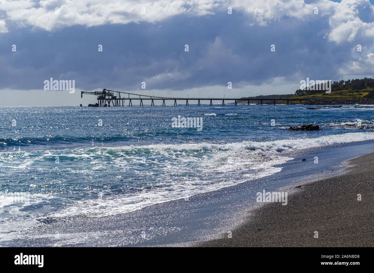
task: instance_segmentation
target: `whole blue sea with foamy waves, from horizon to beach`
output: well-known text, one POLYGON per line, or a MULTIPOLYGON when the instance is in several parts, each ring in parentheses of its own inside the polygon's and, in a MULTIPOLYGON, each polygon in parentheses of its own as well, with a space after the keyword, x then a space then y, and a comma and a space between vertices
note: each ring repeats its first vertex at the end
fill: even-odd
POLYGON ((343 126, 374 125, 374 108, 306 107, 0 107, 0 240, 269 176, 292 151, 374 139, 372 129, 343 126), (202 130, 172 127, 178 115, 202 118, 202 130), (286 129, 306 123, 323 130, 286 129))

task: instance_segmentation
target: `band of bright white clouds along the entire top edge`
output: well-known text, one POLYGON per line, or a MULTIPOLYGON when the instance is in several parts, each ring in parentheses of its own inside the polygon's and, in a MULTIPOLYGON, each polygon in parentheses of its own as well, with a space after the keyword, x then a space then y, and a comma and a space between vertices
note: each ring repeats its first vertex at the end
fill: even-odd
MULTIPOLYGON (((229 6, 234 12, 247 13, 260 26, 285 17, 328 20, 328 39, 338 44, 351 42, 358 35, 374 36, 374 23, 361 18, 374 18, 374 7, 369 0, 342 0, 341 3, 320 0, 312 4, 306 4, 304 0, 144 0, 141 3, 137 0, 0 0, 0 10, 6 13, 6 20, 47 31, 73 25, 155 23, 180 14, 213 14, 218 9, 227 10, 229 6), (59 7, 59 14, 55 13, 55 7, 59 7), (318 15, 314 14, 315 7, 318 7, 318 15)), ((7 32, 4 20, 0 20, 0 32, 7 32)))

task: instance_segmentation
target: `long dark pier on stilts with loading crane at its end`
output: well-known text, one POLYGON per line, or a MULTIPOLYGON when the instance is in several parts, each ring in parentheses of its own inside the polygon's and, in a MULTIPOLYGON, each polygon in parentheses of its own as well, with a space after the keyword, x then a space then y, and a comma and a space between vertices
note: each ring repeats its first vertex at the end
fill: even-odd
MULTIPOLYGON (((247 105, 249 105, 250 101, 260 101, 260 105, 263 105, 263 101, 272 101, 273 104, 275 105, 276 101, 287 101, 287 105, 289 105, 290 101, 306 101, 306 99, 300 100, 296 98, 287 98, 287 99, 282 99, 282 98, 249 98, 249 99, 243 99, 243 98, 181 98, 181 97, 158 97, 158 96, 151 96, 151 95, 140 95, 140 94, 134 94, 134 93, 129 93, 129 92, 121 92, 121 91, 113 91, 113 90, 107 90, 103 89, 102 92, 86 92, 86 91, 81 91, 80 97, 83 97, 83 94, 89 94, 89 95, 97 95, 97 104, 98 107, 120 107, 120 106, 125 106, 127 105, 128 101, 128 106, 132 106, 133 101, 138 101, 137 104, 139 106, 144 106, 143 105, 143 100, 150 100, 151 104, 150 106, 154 106, 154 101, 161 101, 162 100, 162 106, 166 106, 165 101, 172 100, 174 101, 174 106, 177 106, 177 101, 186 101, 186 106, 188 106, 188 101, 197 101, 197 106, 200 106, 201 101, 209 101, 209 105, 213 105, 213 101, 222 101, 222 106, 225 105, 225 101, 233 101, 234 105, 238 104, 238 101, 246 101, 247 105), (117 93, 117 96, 114 96, 114 94, 117 93), (121 94, 126 94, 128 95, 127 98, 122 97, 121 94), (139 97, 130 97, 130 95, 134 96, 137 95, 139 97), (126 101, 126 103, 125 103, 126 101), (122 105, 121 105, 122 104, 122 105)), ((184 103, 183 103, 184 104, 184 103)))

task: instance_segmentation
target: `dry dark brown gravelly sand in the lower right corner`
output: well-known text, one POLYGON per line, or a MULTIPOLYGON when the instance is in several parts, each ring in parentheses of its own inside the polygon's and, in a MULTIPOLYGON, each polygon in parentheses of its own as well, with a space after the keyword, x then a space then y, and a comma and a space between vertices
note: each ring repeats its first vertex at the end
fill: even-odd
POLYGON ((266 203, 222 239, 199 247, 373 247, 374 153, 349 160, 348 172, 300 187, 288 204, 266 203), (358 194, 362 200, 358 201, 358 194), (314 238, 318 231, 318 238, 314 238))

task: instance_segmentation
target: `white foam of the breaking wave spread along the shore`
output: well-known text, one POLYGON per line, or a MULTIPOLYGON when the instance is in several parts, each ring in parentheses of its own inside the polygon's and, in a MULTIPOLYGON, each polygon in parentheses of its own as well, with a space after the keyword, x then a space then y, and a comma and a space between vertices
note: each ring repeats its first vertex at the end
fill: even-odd
MULTIPOLYGON (((80 173, 91 176, 95 169, 109 168, 116 170, 116 175, 111 179, 127 179, 128 175, 132 174, 132 179, 149 180, 152 184, 151 186, 138 186, 141 188, 138 188, 137 191, 127 191, 123 194, 113 193, 108 187, 91 188, 82 184, 85 186, 85 191, 90 191, 91 197, 78 201, 68 200, 64 207, 59 206, 57 210, 46 210, 45 214, 38 216, 21 214, 24 213, 22 206, 3 204, 0 211, 10 210, 13 215, 27 218, 22 219, 21 217, 11 220, 1 218, 0 233, 34 227, 39 225, 40 221, 38 220, 43 217, 103 217, 140 210, 149 205, 215 191, 280 172, 282 168, 278 165, 292 159, 280 153, 282 151, 373 139, 374 132, 360 132, 264 142, 130 145, 45 152, 44 156, 48 157, 64 154, 65 157, 81 160, 80 163, 89 162, 91 169, 87 169, 87 165, 82 166, 81 169, 79 169, 79 165, 75 165, 75 169, 67 166, 57 169, 56 172, 65 175, 64 179, 71 178, 73 180, 74 176, 80 175, 80 173), (147 157, 145 162, 142 161, 143 156, 147 157), (143 165, 143 169, 140 170, 139 168, 143 165), (72 172, 73 169, 74 172, 72 172), (70 176, 66 176, 67 174, 70 176), (102 198, 99 195, 101 191, 104 192, 102 198)), ((44 156, 42 156, 42 160, 46 160, 44 156)), ((9 159, 9 156, 6 156, 6 159, 9 159)), ((40 156, 30 156, 29 159, 37 161, 40 160, 40 156)), ((109 182, 114 183, 115 181, 109 182)), ((124 185, 123 182, 121 183, 120 185, 124 185)), ((77 186, 79 185, 77 184, 77 186)), ((124 186, 127 186, 126 182, 124 186)), ((57 196, 57 193, 32 194, 30 203, 37 205, 45 202, 43 204, 53 207, 49 205, 48 200, 55 201, 57 196)))

